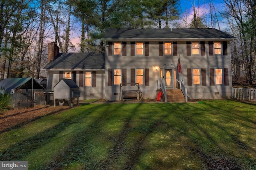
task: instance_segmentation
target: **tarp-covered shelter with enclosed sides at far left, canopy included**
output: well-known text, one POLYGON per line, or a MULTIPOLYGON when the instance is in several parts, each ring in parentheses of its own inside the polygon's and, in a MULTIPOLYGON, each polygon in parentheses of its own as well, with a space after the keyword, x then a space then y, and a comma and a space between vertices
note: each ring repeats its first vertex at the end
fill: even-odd
POLYGON ((44 87, 34 78, 6 78, 0 82, 0 90, 10 94, 13 107, 16 105, 28 107, 36 103, 40 104, 40 96, 43 96, 42 101, 44 101, 44 87))

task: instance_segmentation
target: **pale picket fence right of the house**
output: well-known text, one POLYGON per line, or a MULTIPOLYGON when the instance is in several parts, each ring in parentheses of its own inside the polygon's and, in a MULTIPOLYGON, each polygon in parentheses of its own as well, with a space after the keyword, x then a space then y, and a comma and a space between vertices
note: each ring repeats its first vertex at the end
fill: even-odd
POLYGON ((256 101, 255 88, 233 88, 232 97, 236 100, 256 101))

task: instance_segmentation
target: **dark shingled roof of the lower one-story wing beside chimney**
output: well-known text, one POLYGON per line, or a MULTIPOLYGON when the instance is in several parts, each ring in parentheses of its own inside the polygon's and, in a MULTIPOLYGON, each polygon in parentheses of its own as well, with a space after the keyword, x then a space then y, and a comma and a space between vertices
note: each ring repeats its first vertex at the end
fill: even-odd
POLYGON ((105 69, 105 53, 59 53, 45 70, 105 69))

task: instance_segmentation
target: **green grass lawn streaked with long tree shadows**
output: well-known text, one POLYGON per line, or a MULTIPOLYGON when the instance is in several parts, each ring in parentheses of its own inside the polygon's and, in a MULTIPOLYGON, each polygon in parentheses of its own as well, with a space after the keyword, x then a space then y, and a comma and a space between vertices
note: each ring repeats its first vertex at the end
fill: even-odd
POLYGON ((28 169, 256 169, 256 104, 87 104, 0 134, 28 169))

